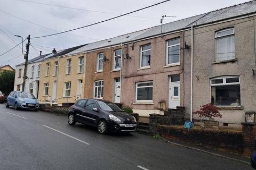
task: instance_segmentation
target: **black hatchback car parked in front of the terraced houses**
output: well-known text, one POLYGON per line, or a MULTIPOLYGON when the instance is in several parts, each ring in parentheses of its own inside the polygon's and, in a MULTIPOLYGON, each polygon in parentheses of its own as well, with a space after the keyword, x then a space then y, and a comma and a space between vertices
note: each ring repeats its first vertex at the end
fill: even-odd
POLYGON ((134 132, 137 128, 135 117, 125 113, 110 101, 101 99, 80 99, 70 107, 68 123, 76 122, 97 127, 103 134, 112 132, 134 132))

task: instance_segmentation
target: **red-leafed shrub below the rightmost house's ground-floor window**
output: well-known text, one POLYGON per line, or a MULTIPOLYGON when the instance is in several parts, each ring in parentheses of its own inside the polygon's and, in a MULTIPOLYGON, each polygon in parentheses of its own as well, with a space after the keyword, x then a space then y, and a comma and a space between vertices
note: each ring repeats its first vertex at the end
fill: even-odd
POLYGON ((207 117, 209 118, 209 121, 214 120, 212 117, 222 117, 218 108, 216 106, 213 106, 212 103, 205 104, 200 107, 200 110, 194 112, 194 114, 198 114, 200 117, 207 117))

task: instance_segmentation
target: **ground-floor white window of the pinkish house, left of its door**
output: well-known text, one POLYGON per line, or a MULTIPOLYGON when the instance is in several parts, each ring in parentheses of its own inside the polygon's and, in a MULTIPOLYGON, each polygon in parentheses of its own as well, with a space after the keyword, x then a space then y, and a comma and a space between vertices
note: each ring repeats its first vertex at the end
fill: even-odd
POLYGON ((153 103, 153 81, 136 83, 136 103, 153 103))

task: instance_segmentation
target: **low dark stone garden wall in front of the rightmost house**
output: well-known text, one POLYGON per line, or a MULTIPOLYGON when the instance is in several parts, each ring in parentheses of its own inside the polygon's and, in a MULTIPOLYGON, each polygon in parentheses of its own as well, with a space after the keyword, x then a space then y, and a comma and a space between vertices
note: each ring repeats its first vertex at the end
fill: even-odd
POLYGON ((163 138, 185 141, 188 143, 210 146, 211 148, 243 154, 243 132, 230 130, 214 130, 182 126, 158 125, 157 132, 163 138))

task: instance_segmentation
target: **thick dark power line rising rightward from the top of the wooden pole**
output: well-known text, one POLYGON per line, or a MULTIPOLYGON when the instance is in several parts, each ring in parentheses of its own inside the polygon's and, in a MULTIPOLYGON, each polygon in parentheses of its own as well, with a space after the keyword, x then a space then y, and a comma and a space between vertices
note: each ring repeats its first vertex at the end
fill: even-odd
POLYGON ((122 14, 122 15, 118 15, 118 16, 115 16, 115 17, 110 18, 110 19, 107 19, 107 20, 103 20, 103 21, 99 21, 99 22, 92 23, 92 24, 89 24, 89 25, 85 25, 85 26, 83 26, 83 27, 79 27, 79 28, 75 28, 75 29, 71 29, 71 30, 67 30, 67 31, 59 32, 59 33, 53 33, 53 34, 46 35, 46 36, 32 37, 31 39, 34 39, 34 38, 43 38, 43 37, 49 37, 49 36, 55 36, 55 35, 59 35, 59 34, 61 34, 61 33, 66 33, 66 32, 70 32, 70 31, 82 29, 82 28, 85 28, 85 27, 90 27, 90 26, 92 26, 92 25, 96 25, 96 24, 99 24, 99 23, 102 23, 102 22, 114 20, 114 19, 116 19, 116 18, 120 18, 121 16, 128 15, 128 14, 131 14, 131 13, 134 13, 134 12, 138 12, 138 11, 141 11, 141 10, 145 10, 146 8, 153 7, 153 6, 156 6, 156 5, 159 5, 159 4, 168 2, 168 1, 171 1, 171 0, 162 1, 162 2, 159 2, 159 3, 153 4, 153 5, 147 6, 147 7, 140 8, 139 10, 135 10, 135 11, 132 11, 132 12, 128 12, 128 13, 125 13, 125 14, 122 14))

